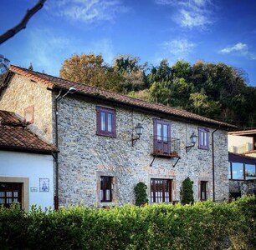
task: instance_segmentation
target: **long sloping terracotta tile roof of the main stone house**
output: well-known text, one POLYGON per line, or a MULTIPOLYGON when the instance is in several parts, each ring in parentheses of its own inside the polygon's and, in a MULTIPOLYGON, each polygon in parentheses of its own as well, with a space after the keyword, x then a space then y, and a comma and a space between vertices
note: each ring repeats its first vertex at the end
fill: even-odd
MULTIPOLYGON (((219 122, 207 117, 202 117, 192 112, 187 112, 186 110, 178 109, 175 107, 167 107, 165 105, 161 105, 158 103, 146 102, 144 100, 127 97, 117 92, 110 92, 105 89, 91 87, 89 85, 85 85, 79 82, 71 82, 69 80, 64 80, 59 77, 49 76, 41 72, 34 72, 23 67, 17 67, 17 66, 11 65, 9 67, 9 73, 10 72, 11 73, 15 72, 23 76, 27 76, 28 78, 36 82, 42 82, 51 89, 63 89, 67 91, 69 90, 69 87, 75 87, 77 90, 76 93, 80 95, 101 98, 101 99, 109 100, 111 102, 118 102, 121 104, 129 105, 132 107, 139 107, 139 108, 146 109, 153 112, 161 112, 161 113, 165 113, 166 115, 171 115, 177 118, 189 119, 194 122, 206 122, 207 124, 210 124, 214 127, 237 128, 234 125, 231 125, 225 122, 219 122)), ((10 77, 10 75, 8 77, 10 77)), ((5 84, 3 83, 2 89, 0 88, 0 94, 1 94, 1 91, 3 91, 3 87, 5 84)))

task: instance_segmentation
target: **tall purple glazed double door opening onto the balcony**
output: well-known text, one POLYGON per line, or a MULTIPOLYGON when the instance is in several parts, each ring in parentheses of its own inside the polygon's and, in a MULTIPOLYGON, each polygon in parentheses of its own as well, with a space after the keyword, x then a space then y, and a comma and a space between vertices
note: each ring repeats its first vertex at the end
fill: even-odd
POLYGON ((154 120, 154 152, 171 153, 171 124, 163 120, 154 120))

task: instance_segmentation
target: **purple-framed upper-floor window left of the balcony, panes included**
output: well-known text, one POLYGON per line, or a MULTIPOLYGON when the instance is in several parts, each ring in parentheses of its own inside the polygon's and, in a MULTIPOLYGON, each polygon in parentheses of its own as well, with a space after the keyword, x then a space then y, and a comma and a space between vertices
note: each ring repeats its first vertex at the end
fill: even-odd
POLYGON ((116 137, 115 110, 106 107, 96 107, 97 134, 107 137, 116 137))

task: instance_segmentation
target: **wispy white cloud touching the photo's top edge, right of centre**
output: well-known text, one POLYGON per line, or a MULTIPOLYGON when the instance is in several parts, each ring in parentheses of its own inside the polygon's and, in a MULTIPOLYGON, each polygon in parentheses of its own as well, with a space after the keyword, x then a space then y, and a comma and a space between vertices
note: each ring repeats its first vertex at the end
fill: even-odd
POLYGON ((177 11, 173 20, 185 28, 205 28, 212 23, 211 0, 155 0, 156 4, 172 5, 177 11))

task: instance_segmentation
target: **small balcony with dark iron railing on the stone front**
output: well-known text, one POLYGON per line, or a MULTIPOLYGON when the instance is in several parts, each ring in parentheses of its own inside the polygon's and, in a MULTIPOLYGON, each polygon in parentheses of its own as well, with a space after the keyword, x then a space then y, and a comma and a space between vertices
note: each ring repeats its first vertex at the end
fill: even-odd
POLYGON ((180 158, 180 139, 154 136, 152 155, 154 157, 180 158))

